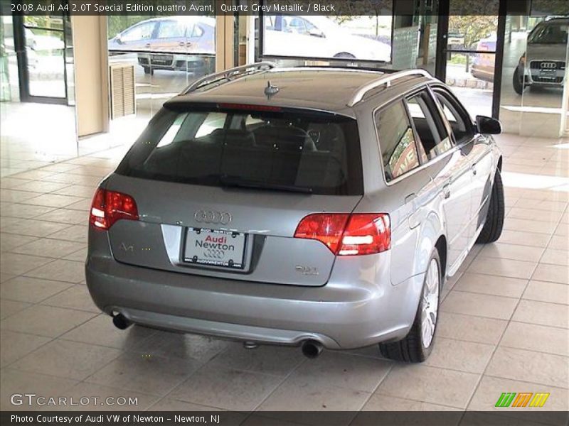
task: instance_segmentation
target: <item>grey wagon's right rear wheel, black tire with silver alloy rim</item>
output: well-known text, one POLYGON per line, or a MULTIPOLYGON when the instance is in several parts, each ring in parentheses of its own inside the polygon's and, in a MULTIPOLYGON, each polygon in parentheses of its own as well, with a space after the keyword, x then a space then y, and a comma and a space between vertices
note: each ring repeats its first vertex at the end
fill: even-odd
POLYGON ((437 249, 432 252, 428 265, 413 325, 404 339, 379 344, 379 351, 385 358, 416 363, 425 361, 432 351, 442 288, 442 268, 437 249))

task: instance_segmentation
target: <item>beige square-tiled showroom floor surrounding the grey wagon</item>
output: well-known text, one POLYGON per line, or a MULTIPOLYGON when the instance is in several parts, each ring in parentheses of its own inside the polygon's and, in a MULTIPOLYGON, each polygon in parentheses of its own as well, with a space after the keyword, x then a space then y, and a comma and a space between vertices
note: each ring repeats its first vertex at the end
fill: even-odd
POLYGON ((138 397, 139 410, 492 410, 502 392, 545 391, 546 408, 568 410, 569 140, 499 144, 504 234, 447 284, 421 365, 376 348, 307 360, 296 348, 121 332, 92 304, 83 260, 90 197, 124 149, 2 178, 0 408, 33 392, 138 397))

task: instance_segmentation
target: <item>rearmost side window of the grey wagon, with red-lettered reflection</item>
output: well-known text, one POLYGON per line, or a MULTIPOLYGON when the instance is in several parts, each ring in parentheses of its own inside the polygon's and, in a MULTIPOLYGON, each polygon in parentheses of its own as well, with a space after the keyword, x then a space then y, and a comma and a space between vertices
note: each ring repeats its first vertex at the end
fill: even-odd
POLYGON ((413 126, 403 102, 396 102, 376 112, 376 127, 388 182, 419 166, 413 126))

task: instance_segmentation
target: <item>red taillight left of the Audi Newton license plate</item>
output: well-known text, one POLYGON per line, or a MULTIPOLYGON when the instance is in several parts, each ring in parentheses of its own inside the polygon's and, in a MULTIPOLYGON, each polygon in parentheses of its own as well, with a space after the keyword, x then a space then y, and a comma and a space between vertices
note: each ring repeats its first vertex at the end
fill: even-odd
POLYGON ((97 188, 91 203, 90 224, 97 229, 109 229, 119 219, 138 220, 137 202, 122 192, 97 188))

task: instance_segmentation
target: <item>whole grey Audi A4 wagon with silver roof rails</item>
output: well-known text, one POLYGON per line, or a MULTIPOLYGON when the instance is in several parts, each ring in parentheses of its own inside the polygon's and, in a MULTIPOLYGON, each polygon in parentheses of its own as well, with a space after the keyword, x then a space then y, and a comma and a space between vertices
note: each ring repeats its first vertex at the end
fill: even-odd
POLYGON ((422 361, 445 279, 501 234, 499 131, 421 70, 204 77, 97 189, 92 298, 119 328, 422 361))

